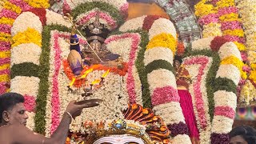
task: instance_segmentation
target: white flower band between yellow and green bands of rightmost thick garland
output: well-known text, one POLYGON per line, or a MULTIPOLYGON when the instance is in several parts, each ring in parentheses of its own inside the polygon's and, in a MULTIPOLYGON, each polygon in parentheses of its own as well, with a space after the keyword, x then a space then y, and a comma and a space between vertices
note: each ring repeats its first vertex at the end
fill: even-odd
POLYGON ((229 78, 235 85, 238 85, 240 81, 240 70, 234 65, 220 65, 216 74, 216 78, 218 77, 229 78))

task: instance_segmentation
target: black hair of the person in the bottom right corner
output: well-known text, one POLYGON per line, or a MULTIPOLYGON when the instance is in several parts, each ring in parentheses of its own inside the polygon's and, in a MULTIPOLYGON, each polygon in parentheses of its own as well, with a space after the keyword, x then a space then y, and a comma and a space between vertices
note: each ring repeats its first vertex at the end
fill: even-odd
POLYGON ((230 138, 242 136, 248 144, 256 144, 256 130, 250 126, 238 126, 230 131, 230 138))

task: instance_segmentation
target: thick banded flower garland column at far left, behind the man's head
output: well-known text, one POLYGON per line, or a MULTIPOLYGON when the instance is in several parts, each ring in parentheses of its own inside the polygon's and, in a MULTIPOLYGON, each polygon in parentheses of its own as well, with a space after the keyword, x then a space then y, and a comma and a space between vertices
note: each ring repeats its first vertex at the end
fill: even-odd
POLYGON ((42 46, 41 33, 42 21, 37 15, 29 11, 20 14, 11 28, 13 44, 10 90, 24 95, 26 98, 25 104, 30 103, 30 105, 26 104, 25 106, 30 111, 31 117, 27 126, 31 130, 34 130, 34 107, 40 81, 38 65, 42 46), (24 19, 27 20, 27 23, 24 22, 24 19), (26 82, 27 79, 30 79, 30 82, 26 82))

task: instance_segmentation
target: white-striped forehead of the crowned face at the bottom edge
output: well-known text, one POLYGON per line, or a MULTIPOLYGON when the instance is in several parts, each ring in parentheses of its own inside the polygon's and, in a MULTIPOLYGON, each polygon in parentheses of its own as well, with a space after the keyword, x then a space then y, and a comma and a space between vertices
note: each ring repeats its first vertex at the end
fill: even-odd
POLYGON ((130 135, 113 135, 99 138, 94 144, 145 144, 142 138, 136 138, 130 135))

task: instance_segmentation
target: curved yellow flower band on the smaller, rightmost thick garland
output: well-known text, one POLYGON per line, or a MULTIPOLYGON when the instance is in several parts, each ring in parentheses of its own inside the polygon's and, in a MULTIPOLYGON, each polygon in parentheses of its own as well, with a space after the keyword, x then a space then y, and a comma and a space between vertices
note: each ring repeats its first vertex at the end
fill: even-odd
POLYGON ((240 71, 241 77, 243 79, 247 78, 246 72, 242 70, 242 66, 244 66, 244 63, 239 58, 235 57, 234 55, 231 55, 230 57, 224 58, 221 62, 221 65, 229 65, 229 64, 238 67, 238 70, 240 71))

